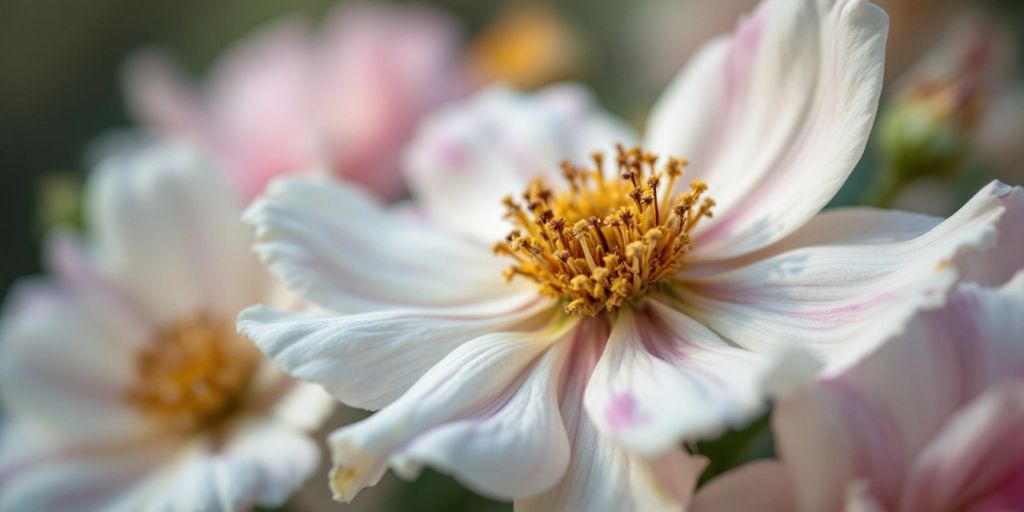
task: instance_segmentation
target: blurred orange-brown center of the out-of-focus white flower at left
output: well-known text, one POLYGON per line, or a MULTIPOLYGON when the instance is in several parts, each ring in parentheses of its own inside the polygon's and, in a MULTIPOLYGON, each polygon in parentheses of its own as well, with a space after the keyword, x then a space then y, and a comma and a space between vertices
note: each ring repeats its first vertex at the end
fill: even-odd
POLYGON ((135 385, 124 399, 179 432, 223 419, 239 403, 259 362, 229 318, 205 314, 156 333, 136 359, 135 385))

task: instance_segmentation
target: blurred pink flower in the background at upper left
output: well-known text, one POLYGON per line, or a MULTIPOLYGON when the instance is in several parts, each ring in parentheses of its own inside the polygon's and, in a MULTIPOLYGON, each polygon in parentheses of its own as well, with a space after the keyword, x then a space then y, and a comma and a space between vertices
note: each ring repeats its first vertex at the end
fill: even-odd
POLYGON ((223 55, 196 90, 159 52, 129 61, 132 113, 198 141, 246 199, 272 178, 328 170, 398 197, 400 148, 421 116, 468 87, 454 20, 425 7, 351 4, 312 33, 285 18, 223 55))

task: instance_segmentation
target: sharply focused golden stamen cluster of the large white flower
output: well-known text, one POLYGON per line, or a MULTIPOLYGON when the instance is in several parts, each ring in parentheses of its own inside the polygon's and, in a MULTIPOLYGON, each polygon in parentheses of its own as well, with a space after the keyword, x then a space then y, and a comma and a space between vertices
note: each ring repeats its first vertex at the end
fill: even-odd
POLYGON ((613 311, 672 276, 690 245, 690 231, 712 216, 708 185, 676 181, 686 161, 618 146, 617 176, 604 175, 604 157, 592 169, 562 163, 568 188, 555 194, 543 179, 530 182, 522 203, 506 198, 515 229, 495 245, 516 260, 505 270, 536 282, 543 295, 565 301, 566 313, 613 311), (663 182, 667 181, 667 182, 663 182))

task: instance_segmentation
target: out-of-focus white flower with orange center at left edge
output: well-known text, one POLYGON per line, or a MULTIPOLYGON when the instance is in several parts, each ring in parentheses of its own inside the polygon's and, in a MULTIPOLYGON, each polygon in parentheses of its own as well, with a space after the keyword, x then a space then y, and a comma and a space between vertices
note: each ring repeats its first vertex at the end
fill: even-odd
POLYGON ((194 153, 112 160, 90 241, 49 247, 0 340, 0 510, 234 510, 282 504, 316 467, 330 397, 234 332, 272 300, 241 207, 194 153))

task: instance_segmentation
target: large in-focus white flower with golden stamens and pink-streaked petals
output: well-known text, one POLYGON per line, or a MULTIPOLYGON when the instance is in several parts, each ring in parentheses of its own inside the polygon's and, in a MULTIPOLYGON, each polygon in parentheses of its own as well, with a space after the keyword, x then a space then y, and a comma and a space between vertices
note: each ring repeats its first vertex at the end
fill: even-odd
POLYGON ((885 33, 865 1, 765 2, 656 105, 657 164, 626 148, 588 164, 634 137, 578 89, 494 89, 414 143, 420 217, 271 185, 247 214, 257 252, 337 313, 257 306, 240 329, 380 409, 331 436, 336 497, 431 465, 522 510, 678 508, 703 467, 681 440, 759 414, 815 368, 807 352, 853 356, 941 303, 958 254, 994 242, 1007 187, 942 222, 816 215, 863 151, 885 33))

